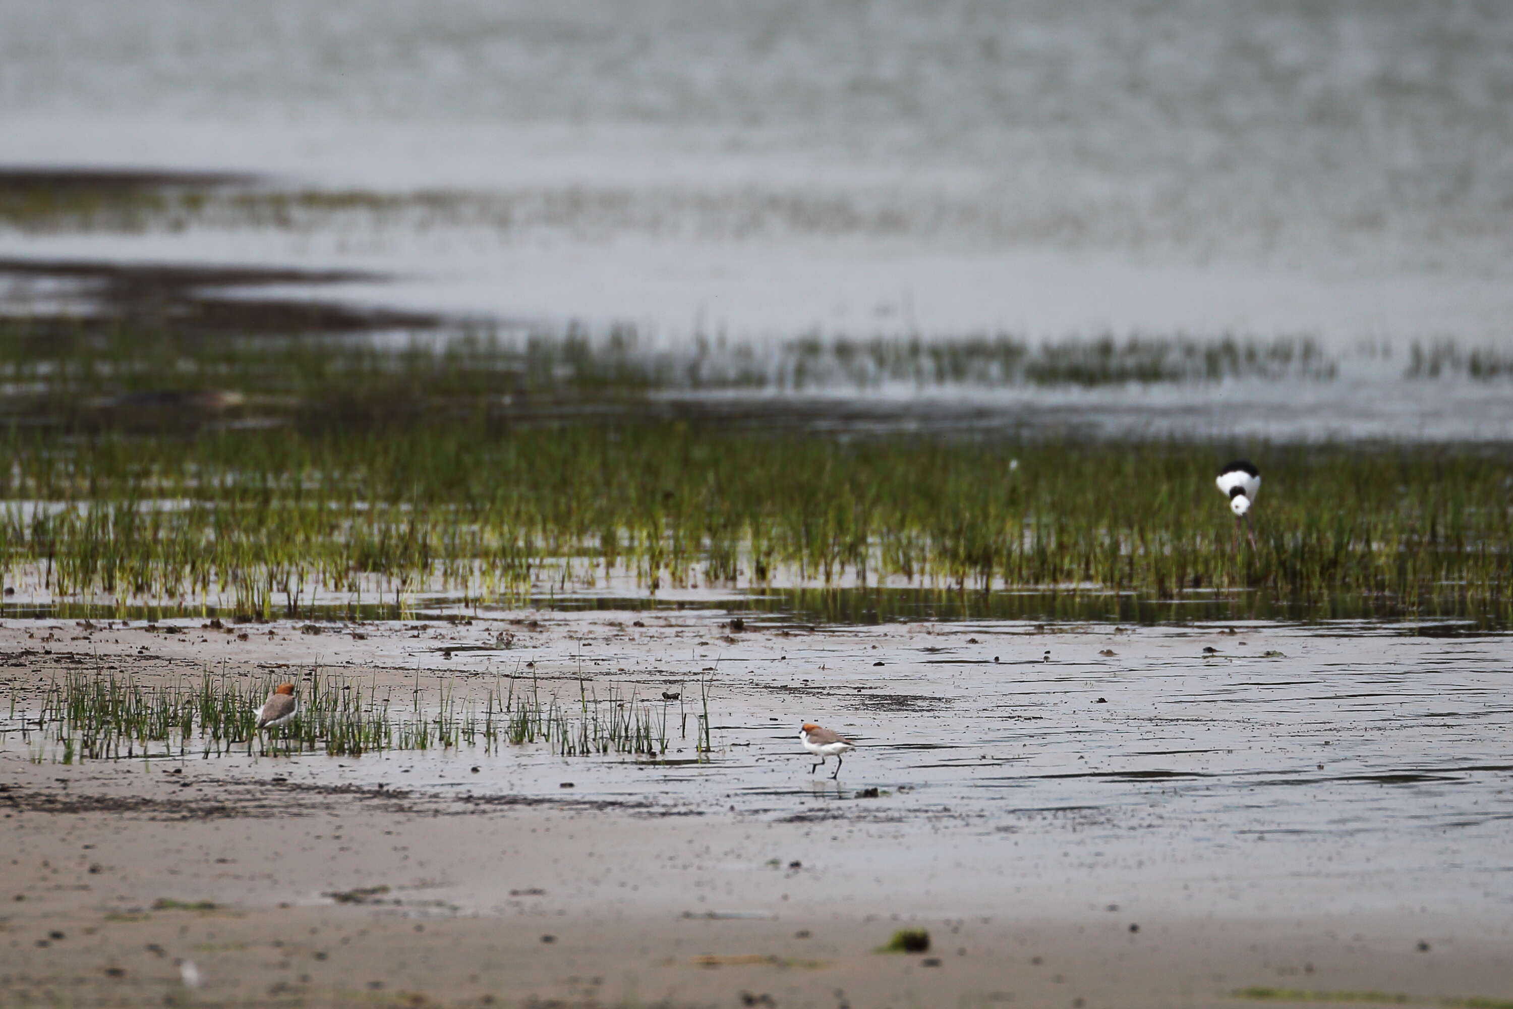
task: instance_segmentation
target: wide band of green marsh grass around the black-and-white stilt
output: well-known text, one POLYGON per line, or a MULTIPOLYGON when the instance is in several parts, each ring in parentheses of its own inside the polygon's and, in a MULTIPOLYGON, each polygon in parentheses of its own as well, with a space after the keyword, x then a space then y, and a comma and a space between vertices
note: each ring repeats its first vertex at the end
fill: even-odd
POLYGON ((1259 546, 1236 549, 1212 480, 1230 446, 823 430, 664 396, 613 336, 390 351, 8 330, 0 570, 54 599, 271 616, 315 593, 489 602, 604 579, 1507 595, 1501 445, 1248 446, 1259 546))

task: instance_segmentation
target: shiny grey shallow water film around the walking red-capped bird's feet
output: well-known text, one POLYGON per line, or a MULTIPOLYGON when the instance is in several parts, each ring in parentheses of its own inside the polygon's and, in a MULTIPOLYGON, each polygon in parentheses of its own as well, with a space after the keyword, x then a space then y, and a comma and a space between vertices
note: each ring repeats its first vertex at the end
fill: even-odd
MULTIPOLYGON (((295 788, 381 785, 472 808, 545 802, 811 824, 870 846, 888 862, 876 871, 938 874, 935 856, 999 852, 1049 873, 1026 893, 1058 873, 1086 871, 1111 893, 1141 893, 1144 906, 1180 909, 1191 896, 1177 882, 1204 880, 1247 893, 1260 912, 1269 897, 1256 888, 1266 879, 1272 896, 1285 891, 1316 909, 1427 900, 1495 917, 1513 902, 1502 844, 1513 818, 1507 634, 1446 640, 1365 622, 1254 623, 1233 634, 1111 625, 1038 632, 968 620, 747 632, 735 644, 701 647, 673 632, 713 634, 714 614, 666 614, 657 628, 619 638, 602 614, 540 616, 549 637, 517 644, 504 672, 525 673, 533 661, 543 694, 572 703, 579 675, 601 688, 681 688, 684 697, 708 678, 713 759, 697 761, 697 700, 684 700, 688 732, 669 702, 670 749, 657 762, 561 758, 534 744, 191 756, 185 767, 227 779, 277 776, 295 788), (608 672, 616 667, 625 672, 608 672), (811 773, 796 740, 802 720, 856 738, 838 781, 811 773)), ((380 666, 440 666, 437 646, 412 643, 409 631, 369 626, 360 647, 374 649, 369 661, 380 666)), ((342 649, 324 647, 340 669, 342 649)), ((492 685, 504 661, 457 652, 446 676, 466 694, 492 685)), ((17 746, 12 732, 6 747, 17 746)), ((121 770, 177 764, 136 759, 121 770)), ((971 879, 980 879, 976 871, 971 879)), ((955 886, 970 888, 967 879, 955 886)), ((831 885, 844 889, 844 877, 831 885)), ((1055 902, 1055 888, 1041 897, 1055 902)), ((463 906, 489 900, 460 896, 463 906)))

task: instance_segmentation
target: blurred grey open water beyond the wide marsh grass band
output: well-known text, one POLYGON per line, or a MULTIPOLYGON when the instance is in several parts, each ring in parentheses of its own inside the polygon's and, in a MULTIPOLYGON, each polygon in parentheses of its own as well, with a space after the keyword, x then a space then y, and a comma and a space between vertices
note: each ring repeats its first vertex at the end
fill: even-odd
MULTIPOLYGON (((1350 359, 1319 430, 1505 437, 1501 389, 1400 378, 1508 346, 1510 54, 1472 2, 0 0, 0 163, 290 197, 0 256, 357 266, 343 296, 675 348, 1310 339, 1350 359)), ((1176 405, 1265 436, 1288 395, 1176 405)))

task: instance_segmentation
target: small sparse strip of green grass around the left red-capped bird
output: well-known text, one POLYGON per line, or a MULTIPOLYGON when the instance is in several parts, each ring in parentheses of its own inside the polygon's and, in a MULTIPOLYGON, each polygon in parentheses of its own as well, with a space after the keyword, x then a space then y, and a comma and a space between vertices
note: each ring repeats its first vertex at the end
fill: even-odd
POLYGON ((257 731, 256 713, 271 679, 204 673, 142 678, 113 669, 71 672, 50 684, 11 687, 0 740, 14 734, 33 759, 186 758, 222 753, 360 756, 384 750, 452 750, 528 743, 561 756, 625 755, 658 759, 672 740, 690 740, 697 759, 711 752, 708 691, 702 709, 651 702, 614 684, 578 685, 576 697, 543 696, 501 681, 481 696, 454 685, 383 688, 313 669, 298 685, 300 713, 257 731), (672 711, 676 708, 676 714, 672 711))

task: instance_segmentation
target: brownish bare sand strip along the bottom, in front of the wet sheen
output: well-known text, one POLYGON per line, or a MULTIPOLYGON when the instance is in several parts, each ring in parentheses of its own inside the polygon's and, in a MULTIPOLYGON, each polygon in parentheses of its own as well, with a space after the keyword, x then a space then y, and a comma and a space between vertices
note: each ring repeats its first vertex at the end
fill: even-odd
POLYGON ((1508 982, 1504 933, 1424 918, 1409 929, 1427 930, 1424 947, 1348 911, 1068 905, 1044 920, 1009 886, 996 911, 958 915, 911 906, 908 880, 870 911, 834 909, 808 880, 865 847, 707 823, 452 820, 337 799, 238 821, 30 812, 0 829, 15 859, 8 1004, 1163 1007, 1278 989, 1436 1004, 1508 982), (769 852, 793 858, 741 865, 769 852), (481 880, 499 906, 458 909, 452 894, 481 880), (758 886, 770 911, 747 902, 758 886), (878 953, 903 926, 926 929, 930 948, 878 953))

